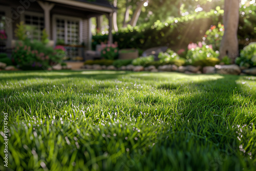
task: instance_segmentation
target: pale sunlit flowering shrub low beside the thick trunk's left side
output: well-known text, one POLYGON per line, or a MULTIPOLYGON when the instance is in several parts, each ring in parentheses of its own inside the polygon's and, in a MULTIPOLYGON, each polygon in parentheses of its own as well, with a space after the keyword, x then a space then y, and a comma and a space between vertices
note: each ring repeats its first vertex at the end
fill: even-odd
POLYGON ((188 45, 186 58, 187 65, 196 65, 196 62, 199 60, 218 58, 218 53, 212 50, 211 45, 203 45, 202 42, 199 42, 198 45, 192 43, 188 45))

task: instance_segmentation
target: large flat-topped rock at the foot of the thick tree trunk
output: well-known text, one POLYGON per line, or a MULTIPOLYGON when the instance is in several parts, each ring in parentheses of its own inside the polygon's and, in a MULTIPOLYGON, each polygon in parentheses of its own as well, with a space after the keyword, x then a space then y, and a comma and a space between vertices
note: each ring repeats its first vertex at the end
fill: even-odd
POLYGON ((241 73, 241 69, 238 65, 216 65, 215 69, 217 74, 239 75, 241 73))

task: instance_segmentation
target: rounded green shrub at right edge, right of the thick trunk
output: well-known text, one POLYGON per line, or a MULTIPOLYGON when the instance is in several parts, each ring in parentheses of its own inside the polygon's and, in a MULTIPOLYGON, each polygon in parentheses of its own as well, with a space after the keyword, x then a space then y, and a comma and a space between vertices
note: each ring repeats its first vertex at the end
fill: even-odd
POLYGON ((250 43, 241 50, 240 57, 236 58, 236 63, 240 67, 254 67, 256 66, 256 43, 250 43))

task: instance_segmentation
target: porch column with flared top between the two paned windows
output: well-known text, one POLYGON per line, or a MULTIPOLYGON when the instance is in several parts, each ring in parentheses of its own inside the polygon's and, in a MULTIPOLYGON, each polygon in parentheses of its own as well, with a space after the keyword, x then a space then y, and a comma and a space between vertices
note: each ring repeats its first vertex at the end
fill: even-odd
MULTIPOLYGON (((48 2, 42 2, 38 1, 38 4, 41 6, 42 9, 44 9, 45 12, 45 29, 47 34, 51 35, 51 28, 50 28, 50 11, 54 7, 55 4, 48 3, 48 2)), ((48 36, 48 38, 49 38, 48 36)))

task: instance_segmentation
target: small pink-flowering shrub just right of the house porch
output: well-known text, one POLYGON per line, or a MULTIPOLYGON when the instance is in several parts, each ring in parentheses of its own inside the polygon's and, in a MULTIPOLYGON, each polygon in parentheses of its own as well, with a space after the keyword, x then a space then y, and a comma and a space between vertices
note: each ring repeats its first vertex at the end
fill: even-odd
POLYGON ((110 44, 110 42, 108 42, 108 45, 105 45, 103 43, 101 43, 101 57, 105 58, 105 59, 117 59, 118 57, 118 45, 117 42, 115 42, 115 44, 110 44))

